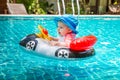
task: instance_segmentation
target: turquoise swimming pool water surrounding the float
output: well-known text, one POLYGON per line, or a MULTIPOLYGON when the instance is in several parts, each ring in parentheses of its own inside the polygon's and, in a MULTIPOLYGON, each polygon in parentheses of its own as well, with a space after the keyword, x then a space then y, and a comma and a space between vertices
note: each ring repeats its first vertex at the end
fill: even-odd
POLYGON ((77 60, 33 55, 19 45, 37 25, 57 36, 54 16, 0 16, 0 80, 119 80, 120 16, 79 16, 77 37, 98 38, 96 54, 77 60))

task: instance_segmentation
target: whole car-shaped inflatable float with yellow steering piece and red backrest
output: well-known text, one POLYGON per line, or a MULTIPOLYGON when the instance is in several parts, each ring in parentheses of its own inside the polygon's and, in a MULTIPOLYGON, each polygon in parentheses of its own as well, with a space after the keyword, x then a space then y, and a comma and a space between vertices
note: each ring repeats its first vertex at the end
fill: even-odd
POLYGON ((97 38, 93 35, 84 36, 73 40, 70 48, 51 46, 48 43, 50 37, 46 29, 38 27, 40 33, 29 34, 20 41, 20 45, 27 50, 33 50, 39 55, 53 58, 83 58, 95 54, 93 45, 97 38))

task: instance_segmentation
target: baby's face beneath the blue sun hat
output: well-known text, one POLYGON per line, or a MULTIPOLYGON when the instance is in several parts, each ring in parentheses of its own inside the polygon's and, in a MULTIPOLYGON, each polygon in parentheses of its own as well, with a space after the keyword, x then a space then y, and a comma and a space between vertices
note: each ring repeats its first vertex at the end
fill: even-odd
POLYGON ((65 24, 62 22, 58 22, 58 33, 61 36, 65 36, 66 34, 72 32, 65 24))

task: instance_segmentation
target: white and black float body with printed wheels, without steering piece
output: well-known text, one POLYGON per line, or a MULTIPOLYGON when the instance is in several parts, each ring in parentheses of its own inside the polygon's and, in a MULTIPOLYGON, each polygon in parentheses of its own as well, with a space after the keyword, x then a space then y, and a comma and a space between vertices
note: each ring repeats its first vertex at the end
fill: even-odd
MULTIPOLYGON (((87 38, 88 39, 88 38, 87 38)), ((73 43, 71 43, 72 45, 73 43)), ((39 55, 45 55, 53 58, 83 58, 94 55, 95 51, 92 47, 86 50, 76 50, 77 48, 51 46, 47 40, 39 38, 36 34, 30 34, 20 41, 20 45, 28 50, 33 50, 39 55)), ((80 44, 79 44, 80 45, 80 44)), ((88 45, 91 46, 91 45, 88 45)))

